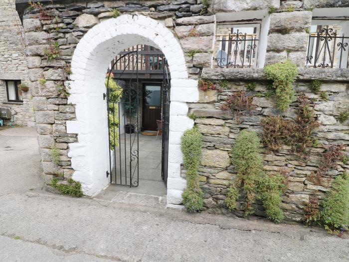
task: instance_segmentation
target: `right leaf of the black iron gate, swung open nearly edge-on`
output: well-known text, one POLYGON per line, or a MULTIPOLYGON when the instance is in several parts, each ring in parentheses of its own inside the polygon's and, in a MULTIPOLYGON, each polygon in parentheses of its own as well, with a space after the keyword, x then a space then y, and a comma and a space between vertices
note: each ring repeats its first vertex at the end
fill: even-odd
POLYGON ((171 78, 169 72, 169 65, 165 59, 164 64, 164 79, 162 85, 162 103, 163 103, 163 143, 162 143, 162 164, 161 177, 167 186, 168 163, 169 163, 169 124, 170 124, 170 90, 171 78))

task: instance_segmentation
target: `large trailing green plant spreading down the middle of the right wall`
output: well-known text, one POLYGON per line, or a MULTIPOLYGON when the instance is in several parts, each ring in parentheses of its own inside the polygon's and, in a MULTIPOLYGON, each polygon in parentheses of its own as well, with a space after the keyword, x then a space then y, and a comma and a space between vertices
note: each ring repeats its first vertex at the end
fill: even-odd
POLYGON ((240 132, 231 150, 232 163, 237 172, 237 179, 228 189, 226 205, 230 211, 235 209, 240 189, 246 197, 245 215, 254 213, 252 204, 256 199, 263 202, 268 218, 276 223, 283 219, 280 209, 284 177, 281 174, 269 175, 263 171, 261 143, 256 133, 243 130, 240 132))

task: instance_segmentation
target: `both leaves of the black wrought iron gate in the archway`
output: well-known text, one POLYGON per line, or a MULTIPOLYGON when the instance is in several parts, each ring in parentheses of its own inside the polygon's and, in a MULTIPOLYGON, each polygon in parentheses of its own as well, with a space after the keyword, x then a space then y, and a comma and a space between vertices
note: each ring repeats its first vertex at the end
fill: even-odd
MULTIPOLYGON (((110 177, 110 184, 112 185, 139 186, 139 132, 141 126, 138 110, 140 101, 138 93, 139 59, 139 53, 136 50, 128 52, 114 61, 111 68, 114 68, 117 63, 122 63, 125 65, 124 68, 128 68, 127 73, 130 78, 124 86, 121 86, 120 82, 115 86, 110 79, 120 79, 125 69, 120 75, 114 75, 113 77, 110 70, 106 80, 107 92, 104 94, 104 99, 107 99, 109 134, 109 170, 107 171, 107 177, 110 177), (120 108, 124 109, 124 114, 120 113, 120 108), (122 128, 119 122, 121 119, 123 119, 126 126, 124 133, 119 135, 122 128)), ((161 177, 167 185, 171 77, 166 59, 164 58, 163 61, 161 177)))

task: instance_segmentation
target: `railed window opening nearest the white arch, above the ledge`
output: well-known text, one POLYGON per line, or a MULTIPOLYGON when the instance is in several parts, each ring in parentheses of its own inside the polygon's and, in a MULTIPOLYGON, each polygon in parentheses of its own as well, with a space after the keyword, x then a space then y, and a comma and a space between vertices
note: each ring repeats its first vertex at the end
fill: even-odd
POLYGON ((217 25, 214 68, 257 66, 260 24, 217 25))

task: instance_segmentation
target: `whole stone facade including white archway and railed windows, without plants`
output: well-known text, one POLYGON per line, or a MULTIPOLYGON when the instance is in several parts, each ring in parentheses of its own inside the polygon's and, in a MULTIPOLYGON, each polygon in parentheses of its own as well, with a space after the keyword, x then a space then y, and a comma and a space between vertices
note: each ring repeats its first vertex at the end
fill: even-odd
MULTIPOLYGON (((286 219, 303 221, 310 200, 321 200, 334 177, 349 168, 338 160, 325 180, 313 178, 331 145, 341 145, 348 155, 349 120, 342 117, 349 110, 348 1, 53 0, 29 5, 17 0, 16 7, 47 183, 72 177, 86 195, 108 185, 105 73, 119 52, 137 44, 159 48, 171 72, 169 207, 182 201, 180 137, 195 123, 204 142, 199 168, 204 210, 229 213, 224 200, 236 178, 229 152, 239 132, 262 135, 261 121, 270 116, 297 119, 300 102, 277 109, 263 71, 286 60, 298 67, 295 96, 309 98, 319 123, 311 134, 317 142, 308 145, 306 158, 288 145, 263 149, 264 170, 287 177, 286 219), (314 80, 321 80, 319 90, 314 91, 314 80), (222 107, 238 94, 252 105, 241 109, 246 112, 239 118, 239 110, 222 107), (53 148, 59 150, 57 163, 50 156, 53 148)), ((258 203, 256 214, 265 216, 258 203)))

